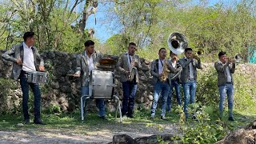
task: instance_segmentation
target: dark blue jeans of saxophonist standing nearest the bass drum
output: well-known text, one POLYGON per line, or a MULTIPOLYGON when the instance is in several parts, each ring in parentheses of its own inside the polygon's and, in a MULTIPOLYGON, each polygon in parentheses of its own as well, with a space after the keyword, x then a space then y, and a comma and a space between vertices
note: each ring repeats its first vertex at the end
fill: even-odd
POLYGON ((137 90, 137 83, 122 82, 123 99, 122 115, 132 115, 134 113, 134 99, 137 90))

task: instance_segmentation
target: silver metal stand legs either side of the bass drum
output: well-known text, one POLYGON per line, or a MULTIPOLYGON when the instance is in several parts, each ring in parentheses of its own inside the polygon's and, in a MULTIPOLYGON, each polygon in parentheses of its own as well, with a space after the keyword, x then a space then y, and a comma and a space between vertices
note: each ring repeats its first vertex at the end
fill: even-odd
MULTIPOLYGON (((84 110, 86 109, 85 104, 86 104, 86 101, 89 98, 90 98, 89 95, 83 95, 81 97, 81 118, 82 118, 82 121, 84 120, 84 110)), ((120 121, 119 122, 122 122, 121 101, 120 101, 120 99, 117 95, 113 95, 112 99, 118 100, 118 107, 117 107, 117 110, 115 111, 115 119, 118 118, 118 111, 119 111, 119 114, 120 114, 120 121)))

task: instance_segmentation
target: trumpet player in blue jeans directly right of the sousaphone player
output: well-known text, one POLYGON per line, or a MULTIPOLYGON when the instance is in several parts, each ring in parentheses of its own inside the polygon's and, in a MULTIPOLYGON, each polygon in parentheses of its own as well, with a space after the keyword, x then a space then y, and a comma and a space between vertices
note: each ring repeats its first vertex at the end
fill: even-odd
MULTIPOLYGON (((191 48, 185 49, 185 58, 178 60, 182 66, 181 81, 184 91, 184 112, 188 118, 187 106, 195 102, 195 92, 197 87, 197 69, 202 69, 201 60, 198 56, 192 54, 191 48)), ((195 116, 192 116, 195 119, 195 116)))

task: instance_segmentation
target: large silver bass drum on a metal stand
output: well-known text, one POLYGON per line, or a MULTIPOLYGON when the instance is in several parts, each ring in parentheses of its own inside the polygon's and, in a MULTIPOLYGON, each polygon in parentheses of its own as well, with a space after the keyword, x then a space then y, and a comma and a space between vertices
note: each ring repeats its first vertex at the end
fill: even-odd
POLYGON ((111 71, 90 71, 89 96, 91 98, 112 98, 114 94, 114 73, 111 71))

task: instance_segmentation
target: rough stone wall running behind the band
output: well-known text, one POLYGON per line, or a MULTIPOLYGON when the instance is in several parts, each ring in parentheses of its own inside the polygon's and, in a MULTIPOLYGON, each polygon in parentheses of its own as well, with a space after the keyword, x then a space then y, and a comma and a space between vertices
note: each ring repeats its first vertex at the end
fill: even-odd
MULTIPOLYGON (((0 55, 2 55, 4 51, 0 51, 0 55)), ((42 58, 45 61, 46 71, 50 74, 50 82, 48 84, 41 85, 42 91, 42 104, 43 107, 50 105, 60 106, 62 110, 74 110, 74 108, 78 108, 80 105, 80 81, 79 78, 74 78, 70 76, 66 76, 66 74, 74 74, 74 70, 76 68, 76 57, 77 54, 66 54, 65 52, 60 51, 45 51, 42 54, 42 58)), ((110 56, 115 61, 118 61, 117 56, 110 56)), ((139 70, 138 73, 140 75, 140 82, 138 84, 138 90, 136 94, 136 104, 135 107, 142 106, 143 108, 150 109, 152 100, 153 100, 153 90, 152 86, 152 76, 150 75, 150 61, 147 61, 144 58, 141 58, 142 70, 139 70)), ((202 72, 208 70, 214 66, 213 63, 203 63, 202 72)), ((12 62, 6 62, 4 60, 0 60, 0 77, 2 78, 10 78, 12 69, 12 62)), ((245 75, 245 78, 248 78, 248 84, 254 85, 256 79, 255 71, 256 66, 251 64, 241 64, 238 65, 237 68, 238 74, 245 75)), ((119 82, 119 74, 118 71, 115 71, 115 83, 118 85, 115 93, 119 95, 122 99, 122 83, 119 82)), ((11 81, 14 82, 14 81, 11 81)), ((14 105, 18 105, 22 99, 22 91, 18 82, 14 82, 12 84, 12 88, 6 84, 5 86, 9 90, 8 95, 0 93, 0 106, 5 103, 8 104, 9 108, 12 108, 14 105), (4 98, 3 98, 4 97, 4 98), (4 101, 3 101, 4 100, 4 101)), ((5 89, 5 88, 4 88, 5 89)), ((256 97, 255 97, 256 98, 256 97)), ((107 102, 107 108, 110 111, 115 110, 115 102, 107 102)), ((95 109, 95 102, 90 102, 90 106, 92 110, 95 109)), ((0 109, 1 111, 1 109, 0 109)))

